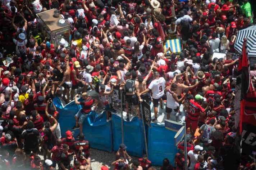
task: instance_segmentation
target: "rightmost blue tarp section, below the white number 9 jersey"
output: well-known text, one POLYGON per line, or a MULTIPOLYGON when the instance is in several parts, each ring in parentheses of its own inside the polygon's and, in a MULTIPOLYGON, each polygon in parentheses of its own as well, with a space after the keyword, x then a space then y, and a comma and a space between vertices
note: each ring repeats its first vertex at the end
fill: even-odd
POLYGON ((163 125, 151 123, 148 128, 148 160, 153 165, 162 166, 163 159, 168 158, 173 164, 175 154, 178 153, 174 144, 177 132, 166 129, 163 125))

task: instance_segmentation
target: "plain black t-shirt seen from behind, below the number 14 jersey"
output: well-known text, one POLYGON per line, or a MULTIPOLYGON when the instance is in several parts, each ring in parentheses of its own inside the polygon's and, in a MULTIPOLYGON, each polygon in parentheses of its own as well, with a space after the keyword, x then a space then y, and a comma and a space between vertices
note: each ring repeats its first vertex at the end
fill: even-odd
POLYGON ((37 146, 37 136, 39 136, 39 132, 37 129, 27 129, 22 132, 22 139, 24 139, 24 147, 33 147, 37 146))

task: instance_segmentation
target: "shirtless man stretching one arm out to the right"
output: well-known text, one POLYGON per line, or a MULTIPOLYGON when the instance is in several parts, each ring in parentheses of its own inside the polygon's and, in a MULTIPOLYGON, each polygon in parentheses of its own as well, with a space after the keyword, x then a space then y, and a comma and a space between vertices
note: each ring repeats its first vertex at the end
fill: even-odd
MULTIPOLYGON (((183 72, 183 73, 186 73, 186 72, 183 72)), ((183 73, 175 75, 175 77, 173 79, 173 82, 178 86, 177 87, 177 91, 176 91, 178 99, 181 98, 181 94, 183 93, 184 89, 193 89, 193 88, 195 88, 198 85, 198 81, 196 81, 196 83, 194 85, 192 85, 192 86, 184 85, 183 84, 183 78, 181 76, 181 75, 183 75, 183 73)))

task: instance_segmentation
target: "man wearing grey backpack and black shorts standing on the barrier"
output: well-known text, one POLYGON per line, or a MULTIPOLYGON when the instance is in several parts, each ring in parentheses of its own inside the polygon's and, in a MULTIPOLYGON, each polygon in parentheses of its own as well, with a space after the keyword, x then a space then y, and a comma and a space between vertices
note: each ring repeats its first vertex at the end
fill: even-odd
MULTIPOLYGON (((128 74, 129 72, 127 72, 128 74)), ((128 108, 130 107, 136 107, 138 117, 141 119, 140 115, 140 108, 138 107, 139 102, 142 102, 141 96, 140 96, 140 90, 139 90, 139 82, 136 81, 137 74, 136 72, 132 72, 132 78, 126 80, 125 85, 124 85, 124 92, 125 92, 125 105, 126 105, 126 110, 127 110, 127 121, 129 122, 129 112, 128 108)), ((129 110, 132 112, 132 110, 129 110)))

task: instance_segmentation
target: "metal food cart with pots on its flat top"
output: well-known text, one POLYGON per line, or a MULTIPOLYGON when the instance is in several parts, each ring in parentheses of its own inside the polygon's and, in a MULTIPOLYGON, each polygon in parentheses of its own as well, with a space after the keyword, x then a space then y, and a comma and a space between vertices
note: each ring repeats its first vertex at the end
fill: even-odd
POLYGON ((67 21, 63 24, 59 20, 64 19, 61 15, 54 17, 54 11, 57 9, 50 9, 36 14, 38 23, 41 24, 41 32, 43 35, 51 37, 51 43, 55 47, 60 45, 61 38, 65 39, 65 47, 70 46, 70 27, 67 21))

